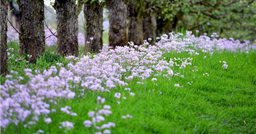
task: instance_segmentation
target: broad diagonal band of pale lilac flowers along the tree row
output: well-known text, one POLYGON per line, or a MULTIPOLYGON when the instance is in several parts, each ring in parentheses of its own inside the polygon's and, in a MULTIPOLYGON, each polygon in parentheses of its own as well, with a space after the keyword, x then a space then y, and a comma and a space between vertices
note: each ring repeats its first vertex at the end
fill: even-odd
MULTIPOLYGON (((46 31, 46 36, 50 35, 49 32, 46 31)), ((9 42, 18 40, 16 36, 11 35, 8 36, 9 42)), ((80 34, 80 36, 82 35, 80 34)), ((53 46, 57 42, 55 36, 51 37, 46 40, 48 46, 53 46)), ((55 66, 42 72, 39 70, 32 72, 30 68, 24 69, 24 77, 29 79, 26 84, 21 84, 20 81, 24 79, 22 76, 7 75, 5 83, 0 85, 0 127, 5 129, 11 123, 18 125, 20 122, 26 122, 24 127, 30 127, 30 125, 38 123, 39 117, 43 117, 44 123, 50 124, 52 119, 48 115, 57 111, 77 116, 69 106, 60 109, 53 109, 52 106, 57 105, 61 98, 69 100, 75 98, 76 95, 77 97, 84 97, 86 90, 113 92, 115 88, 120 87, 125 91, 110 93, 113 99, 117 100, 117 104, 120 104, 122 100, 125 101, 128 97, 135 95, 129 88, 129 81, 136 79, 138 84, 143 84, 143 80, 148 79, 158 86, 159 83, 156 82, 159 82, 160 79, 157 78, 160 76, 169 78, 169 80, 172 76, 177 76, 176 78, 184 78, 183 80, 185 80, 185 74, 181 75, 182 70, 185 70, 187 66, 192 66, 193 58, 170 58, 166 60, 164 57, 166 53, 185 52, 187 56, 197 56, 200 51, 202 53, 210 52, 210 56, 212 56, 212 54, 223 50, 236 52, 237 50, 256 49, 256 46, 249 45, 249 42, 241 43, 232 39, 216 39, 217 37, 218 35, 214 34, 212 38, 206 35, 196 38, 191 31, 187 31, 186 35, 171 32, 169 36, 164 34, 158 38, 159 41, 156 46, 151 46, 147 40, 144 40, 141 46, 129 42, 129 46, 117 46, 115 50, 104 46, 104 50, 93 57, 90 55, 82 55, 80 58, 67 56, 66 59, 70 60, 67 68, 63 68, 62 63, 57 63, 59 70, 55 66), (199 51, 195 52, 195 50, 199 51), (173 68, 177 68, 178 72, 174 74, 173 68)), ((223 63, 222 67, 227 68, 226 62, 223 61, 223 63)), ((197 66, 193 68, 194 71, 197 71, 197 66)), ((11 74, 17 73, 11 72, 11 74)), ((205 74, 209 76, 206 72, 205 74)), ((188 82, 189 85, 192 83, 188 82)), ((183 86, 174 84, 174 87, 183 86)), ((159 93, 162 94, 162 92, 159 93)), ((106 98, 98 96, 96 100, 98 102, 97 109, 88 113, 92 119, 84 121, 83 124, 85 127, 92 127, 93 125, 98 131, 97 133, 111 133, 110 128, 115 127, 115 123, 106 123, 106 117, 110 116, 113 111, 110 111, 110 105, 104 105, 106 98), (100 123, 104 124, 99 126, 100 123)), ((133 117, 124 115, 122 118, 131 119, 133 117)), ((69 130, 73 129, 74 125, 74 123, 64 121, 60 123, 59 128, 64 127, 69 130)), ((40 130, 37 133, 41 132, 40 130)))

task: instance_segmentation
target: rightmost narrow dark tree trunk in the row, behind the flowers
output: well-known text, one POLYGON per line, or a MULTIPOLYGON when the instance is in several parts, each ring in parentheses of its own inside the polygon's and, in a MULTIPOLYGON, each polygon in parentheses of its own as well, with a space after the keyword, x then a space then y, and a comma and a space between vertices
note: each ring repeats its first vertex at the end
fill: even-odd
POLYGON ((152 15, 148 16, 143 21, 143 39, 148 40, 151 38, 150 41, 151 45, 156 44, 156 16, 152 15))

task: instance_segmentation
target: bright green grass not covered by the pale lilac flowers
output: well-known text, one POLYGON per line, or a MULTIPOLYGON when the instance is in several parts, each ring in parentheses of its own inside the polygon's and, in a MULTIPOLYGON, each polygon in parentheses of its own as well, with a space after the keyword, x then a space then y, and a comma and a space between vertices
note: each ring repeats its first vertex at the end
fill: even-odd
MULTIPOLYGON (((15 56, 18 57, 17 46, 11 44, 8 47, 15 48, 15 56)), ((24 68, 42 72, 57 62, 63 63, 67 68, 68 60, 51 55, 55 48, 46 50, 50 53, 40 58, 36 64, 26 63, 25 60, 9 60, 9 70, 18 71, 17 75, 24 76, 24 68), (55 57, 53 62, 47 62, 49 57, 55 57)), ((212 56, 203 52, 199 52, 199 56, 172 52, 164 54, 164 57, 166 60, 191 57, 192 66, 187 65, 184 70, 179 70, 178 66, 172 68, 174 74, 180 72, 184 78, 175 76, 169 80, 162 76, 153 77, 153 74, 143 80, 144 84, 137 84, 136 78, 129 81, 129 87, 135 96, 129 96, 121 87, 110 93, 100 93, 115 102, 118 100, 113 97, 115 92, 127 96, 126 100, 120 99, 120 105, 106 100, 105 105, 111 106, 113 114, 106 117, 105 122, 116 124, 116 127, 111 129, 112 133, 256 133, 255 52, 224 52, 214 53, 212 56), (223 63, 220 61, 223 60, 228 64, 227 69, 222 68, 223 63), (209 76, 203 75, 205 72, 209 76), (157 78, 157 81, 152 82, 152 78, 157 78), (193 83, 190 85, 188 82, 193 83), (174 84, 180 84, 183 88, 174 87, 174 84), (127 114, 133 115, 133 118, 121 118, 127 114)), ((1 84, 4 81, 5 78, 0 79, 1 84)), ((76 94, 79 88, 81 86, 74 89, 76 94)), ((74 99, 59 100, 58 105, 51 105, 53 109, 57 109, 57 113, 49 114, 53 121, 49 125, 44 123, 41 116, 38 124, 32 125, 30 129, 23 127, 25 121, 18 126, 10 125, 1 133, 35 133, 38 129, 49 133, 63 133, 63 129, 59 129, 59 123, 63 121, 74 123, 74 128, 67 133, 95 133, 94 127, 84 127, 83 122, 91 120, 88 112, 95 110, 98 93, 86 90, 84 94, 84 98, 78 98, 76 95, 74 99), (58 111, 66 105, 77 113, 77 117, 58 111)))

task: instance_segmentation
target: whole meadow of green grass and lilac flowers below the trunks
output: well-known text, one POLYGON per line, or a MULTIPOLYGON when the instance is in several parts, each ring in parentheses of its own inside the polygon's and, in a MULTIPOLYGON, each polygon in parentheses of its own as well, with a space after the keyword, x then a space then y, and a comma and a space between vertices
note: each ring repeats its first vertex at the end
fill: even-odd
POLYGON ((1 133, 256 133, 256 42, 198 32, 30 64, 9 30, 1 133))

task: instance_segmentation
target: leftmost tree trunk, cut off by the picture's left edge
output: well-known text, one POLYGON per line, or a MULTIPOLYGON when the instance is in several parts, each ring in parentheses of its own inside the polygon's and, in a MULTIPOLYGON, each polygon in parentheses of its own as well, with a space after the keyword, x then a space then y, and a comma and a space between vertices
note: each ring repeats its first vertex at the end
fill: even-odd
POLYGON ((7 3, 0 0, 0 76, 8 73, 7 63, 7 3))

